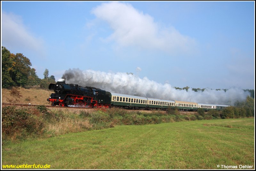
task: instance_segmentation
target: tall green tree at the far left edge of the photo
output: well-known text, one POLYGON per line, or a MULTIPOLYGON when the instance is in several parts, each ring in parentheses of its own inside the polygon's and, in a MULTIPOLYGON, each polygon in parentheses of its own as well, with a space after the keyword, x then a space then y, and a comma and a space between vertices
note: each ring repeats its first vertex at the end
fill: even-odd
POLYGON ((14 54, 2 46, 2 87, 7 88, 15 85, 10 72, 14 71, 14 54))

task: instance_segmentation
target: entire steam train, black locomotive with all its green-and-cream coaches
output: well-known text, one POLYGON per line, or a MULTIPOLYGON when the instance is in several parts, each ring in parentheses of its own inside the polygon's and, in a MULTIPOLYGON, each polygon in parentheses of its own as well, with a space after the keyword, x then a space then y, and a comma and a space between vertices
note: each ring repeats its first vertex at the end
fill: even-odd
POLYGON ((127 94, 106 92, 99 88, 83 87, 77 84, 66 84, 57 82, 50 84, 49 90, 54 90, 49 99, 52 106, 80 106, 91 108, 110 108, 112 106, 127 109, 168 109, 196 111, 198 108, 204 110, 222 110, 228 105, 215 105, 177 100, 161 100, 127 94))

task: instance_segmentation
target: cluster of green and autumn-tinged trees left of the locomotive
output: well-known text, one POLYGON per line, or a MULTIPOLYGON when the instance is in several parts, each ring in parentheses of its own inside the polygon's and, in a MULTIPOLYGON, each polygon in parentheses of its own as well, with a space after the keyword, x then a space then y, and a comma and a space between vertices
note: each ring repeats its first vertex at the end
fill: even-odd
POLYGON ((50 83, 56 83, 53 75, 49 77, 47 69, 44 78, 40 79, 36 69, 30 66, 32 63, 22 53, 13 54, 2 46, 2 88, 40 86, 46 89, 50 83))

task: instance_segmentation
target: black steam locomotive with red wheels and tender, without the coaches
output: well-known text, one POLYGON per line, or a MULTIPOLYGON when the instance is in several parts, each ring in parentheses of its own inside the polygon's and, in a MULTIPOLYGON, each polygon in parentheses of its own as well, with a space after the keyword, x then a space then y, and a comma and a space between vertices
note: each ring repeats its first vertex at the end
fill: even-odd
POLYGON ((110 97, 105 90, 94 87, 83 87, 77 84, 66 84, 57 82, 50 84, 49 90, 54 90, 49 99, 52 106, 84 106, 84 107, 106 107, 110 106, 110 97))

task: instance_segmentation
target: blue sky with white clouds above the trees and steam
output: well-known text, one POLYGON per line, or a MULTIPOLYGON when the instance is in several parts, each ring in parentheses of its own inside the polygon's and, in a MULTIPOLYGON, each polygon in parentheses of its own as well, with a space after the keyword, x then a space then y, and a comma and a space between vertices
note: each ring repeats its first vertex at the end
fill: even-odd
POLYGON ((43 78, 132 72, 160 84, 254 89, 254 2, 4 2, 1 45, 43 78))

